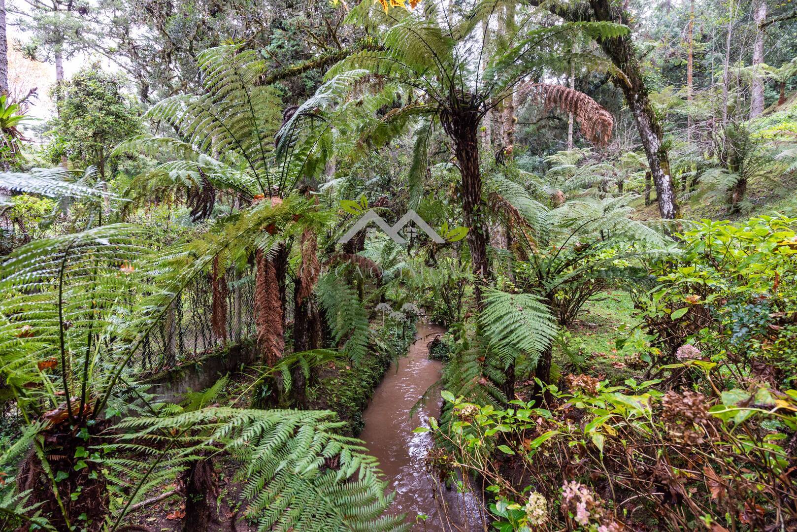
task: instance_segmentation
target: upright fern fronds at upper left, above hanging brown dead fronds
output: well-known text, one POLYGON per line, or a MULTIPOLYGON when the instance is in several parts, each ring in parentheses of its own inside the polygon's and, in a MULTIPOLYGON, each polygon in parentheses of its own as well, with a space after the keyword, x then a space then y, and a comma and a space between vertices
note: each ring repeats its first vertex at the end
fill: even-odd
POLYGON ((238 44, 206 49, 197 61, 204 92, 161 100, 145 116, 168 124, 179 138, 136 136, 116 152, 143 149, 173 159, 142 176, 145 182, 195 186, 206 177, 249 197, 289 195, 295 182, 273 168, 281 102, 273 87, 259 84, 265 61, 238 44))

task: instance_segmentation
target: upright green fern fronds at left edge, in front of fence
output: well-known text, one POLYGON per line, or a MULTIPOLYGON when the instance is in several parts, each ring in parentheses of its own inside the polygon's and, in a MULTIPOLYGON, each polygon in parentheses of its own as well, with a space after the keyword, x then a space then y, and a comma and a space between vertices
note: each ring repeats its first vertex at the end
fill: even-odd
MULTIPOLYGON (((84 404, 107 384, 98 344, 118 333, 120 313, 148 290, 133 275, 149 254, 143 236, 124 224, 98 227, 31 242, 2 263, 0 352, 16 353, 4 370, 21 396, 43 393, 57 404, 60 389, 84 404), (41 378, 49 384, 24 388, 41 378)), ((77 416, 80 408, 68 407, 77 416)))

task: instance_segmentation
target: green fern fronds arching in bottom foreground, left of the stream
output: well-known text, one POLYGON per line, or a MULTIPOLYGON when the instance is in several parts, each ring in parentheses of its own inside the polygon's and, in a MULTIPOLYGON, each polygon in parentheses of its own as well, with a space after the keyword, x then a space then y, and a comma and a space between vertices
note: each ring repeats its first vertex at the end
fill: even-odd
MULTIPOLYGON (((342 425, 332 412, 203 408, 125 420, 117 429, 129 443, 112 450, 165 454, 159 468, 169 470, 221 443, 242 464, 245 515, 258 530, 407 530, 403 516, 380 517, 392 500, 387 484, 359 440, 336 434, 342 425)), ((131 463, 108 465, 132 471, 131 463)))

